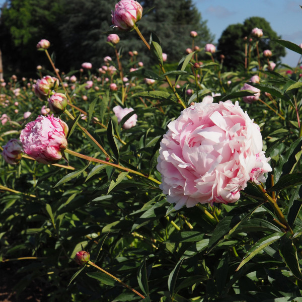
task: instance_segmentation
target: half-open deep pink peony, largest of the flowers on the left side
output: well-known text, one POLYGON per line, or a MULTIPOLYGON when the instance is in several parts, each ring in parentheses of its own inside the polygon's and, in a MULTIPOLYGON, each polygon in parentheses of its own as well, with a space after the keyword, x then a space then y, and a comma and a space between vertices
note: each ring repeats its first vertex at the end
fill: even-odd
POLYGON ((67 147, 68 126, 59 118, 40 115, 21 131, 24 153, 39 163, 54 164, 62 158, 67 147))

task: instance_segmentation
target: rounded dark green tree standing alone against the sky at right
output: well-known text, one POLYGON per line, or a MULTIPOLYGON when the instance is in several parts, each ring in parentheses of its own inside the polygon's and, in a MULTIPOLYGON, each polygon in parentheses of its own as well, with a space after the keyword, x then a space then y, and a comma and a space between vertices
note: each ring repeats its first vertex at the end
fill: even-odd
MULTIPOLYGON (((218 40, 217 50, 223 54, 224 66, 228 69, 238 68, 240 65, 244 66, 245 57, 245 37, 251 37, 253 28, 258 27, 263 31, 263 37, 259 42, 259 52, 262 53, 265 49, 272 51, 270 60, 277 62, 282 56, 285 56, 285 48, 272 41, 274 39, 281 39, 275 31, 272 30, 270 24, 261 17, 251 17, 246 19, 243 24, 229 25, 221 34, 218 40)), ((254 39, 253 37, 251 37, 254 39)), ((256 57, 256 49, 253 48, 252 55, 256 57)), ((263 58, 264 60, 264 58, 263 58)), ((263 61, 264 62, 264 61, 263 61)))

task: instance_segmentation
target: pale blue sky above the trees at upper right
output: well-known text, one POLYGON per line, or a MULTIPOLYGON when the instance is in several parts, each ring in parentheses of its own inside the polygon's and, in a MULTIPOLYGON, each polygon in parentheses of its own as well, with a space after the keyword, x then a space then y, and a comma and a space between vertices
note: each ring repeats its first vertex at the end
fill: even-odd
MULTIPOLYGON (((223 30, 230 24, 243 23, 249 17, 263 17, 271 28, 295 44, 302 43, 302 1, 296 0, 193 0, 207 20, 208 28, 218 41, 223 30)), ((265 32, 264 32, 265 34, 265 32)), ((299 55, 286 49, 283 63, 295 66, 299 55)))

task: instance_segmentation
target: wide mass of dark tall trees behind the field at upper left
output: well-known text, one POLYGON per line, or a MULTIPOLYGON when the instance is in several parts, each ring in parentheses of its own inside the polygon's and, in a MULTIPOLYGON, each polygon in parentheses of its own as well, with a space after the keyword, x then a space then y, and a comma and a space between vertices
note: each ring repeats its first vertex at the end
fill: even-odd
MULTIPOLYGON (((108 0, 10 0, 2 8, 0 49, 4 70, 8 73, 34 72, 36 65, 46 65, 45 55, 36 51, 41 39, 51 43, 56 66, 60 70, 79 69, 91 61, 100 67, 103 57, 113 55, 104 32, 112 30, 111 10, 117 1, 108 0)), ((213 40, 206 21, 191 0, 144 0, 140 2, 146 14, 138 27, 148 40, 156 32, 169 61, 179 60, 191 46, 190 31, 198 33, 199 47, 213 40), (152 9, 153 8, 153 9, 152 9), (149 10, 151 9, 151 10, 149 10), (149 10, 149 11, 148 11, 149 10)), ((137 50, 143 62, 148 62, 147 50, 135 32, 116 32, 122 54, 137 50)))

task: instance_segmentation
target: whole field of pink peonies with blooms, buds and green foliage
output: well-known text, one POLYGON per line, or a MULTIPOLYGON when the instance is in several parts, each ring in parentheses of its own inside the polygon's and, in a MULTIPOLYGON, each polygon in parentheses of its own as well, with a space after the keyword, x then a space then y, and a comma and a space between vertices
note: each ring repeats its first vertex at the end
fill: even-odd
POLYGON ((300 63, 259 53, 259 28, 237 70, 194 45, 195 31, 169 62, 141 18, 138 2, 116 4, 116 56, 102 66, 58 70, 43 39, 51 70, 1 80, 6 290, 20 301, 302 301, 300 63), (121 54, 120 30, 152 66, 121 54))

